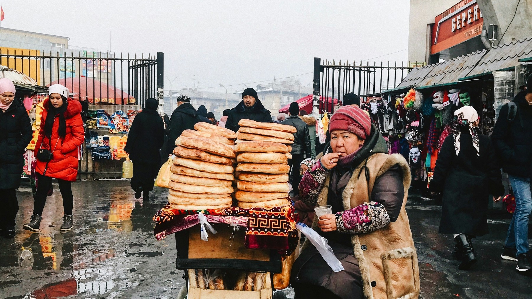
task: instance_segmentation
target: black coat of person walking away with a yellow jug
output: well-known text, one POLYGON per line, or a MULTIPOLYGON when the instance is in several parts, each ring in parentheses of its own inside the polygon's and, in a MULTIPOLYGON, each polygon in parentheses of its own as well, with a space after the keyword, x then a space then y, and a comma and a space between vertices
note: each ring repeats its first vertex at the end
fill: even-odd
POLYGON ((164 123, 156 111, 144 109, 139 113, 128 134, 128 142, 124 150, 135 162, 161 163, 160 150, 164 142, 164 123))

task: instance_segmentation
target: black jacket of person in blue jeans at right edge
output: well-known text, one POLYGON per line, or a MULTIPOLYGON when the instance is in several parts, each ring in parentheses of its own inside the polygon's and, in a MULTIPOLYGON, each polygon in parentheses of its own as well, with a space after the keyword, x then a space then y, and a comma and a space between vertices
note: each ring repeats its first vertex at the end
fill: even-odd
POLYGON ((521 91, 513 99, 517 114, 513 121, 508 120, 508 105, 501 112, 493 129, 492 139, 504 172, 532 177, 532 106, 521 91))

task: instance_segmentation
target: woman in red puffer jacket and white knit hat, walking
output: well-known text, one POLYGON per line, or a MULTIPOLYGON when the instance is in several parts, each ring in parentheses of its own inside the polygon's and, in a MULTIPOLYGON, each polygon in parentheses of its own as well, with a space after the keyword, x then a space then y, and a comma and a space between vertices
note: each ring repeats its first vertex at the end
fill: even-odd
POLYGON ((48 88, 49 98, 44 101, 44 111, 35 145, 38 174, 37 194, 35 195, 34 213, 29 223, 23 228, 37 232, 43 219, 44 205, 48 190, 52 187, 52 178, 59 182, 63 197, 63 224, 61 230, 72 229, 72 195, 71 182, 78 176, 78 148, 84 142, 85 131, 81 120, 81 104, 68 99, 69 90, 61 84, 48 88), (43 125, 44 122, 44 125, 43 125), (52 159, 39 157, 40 149, 52 152, 52 159))

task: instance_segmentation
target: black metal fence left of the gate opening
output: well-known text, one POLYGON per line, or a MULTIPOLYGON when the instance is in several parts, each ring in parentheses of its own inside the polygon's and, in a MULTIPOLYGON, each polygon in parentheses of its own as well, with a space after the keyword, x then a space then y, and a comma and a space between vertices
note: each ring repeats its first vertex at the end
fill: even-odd
POLYGON ((147 56, 84 50, 28 54, 0 49, 0 62, 26 74, 39 86, 63 84, 74 93, 74 98, 93 104, 144 106, 147 98, 162 96, 164 75, 160 52, 147 56))

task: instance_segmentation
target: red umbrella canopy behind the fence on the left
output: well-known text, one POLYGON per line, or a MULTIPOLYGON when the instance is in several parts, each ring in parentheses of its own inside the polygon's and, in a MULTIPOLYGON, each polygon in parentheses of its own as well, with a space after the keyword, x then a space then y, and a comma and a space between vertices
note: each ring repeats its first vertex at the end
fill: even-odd
POLYGON ((54 81, 47 86, 61 84, 72 93, 77 93, 80 99, 88 99, 91 104, 134 104, 135 98, 116 87, 105 84, 102 81, 81 76, 79 78, 66 78, 54 81))

